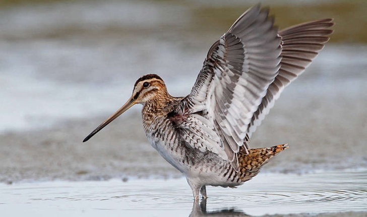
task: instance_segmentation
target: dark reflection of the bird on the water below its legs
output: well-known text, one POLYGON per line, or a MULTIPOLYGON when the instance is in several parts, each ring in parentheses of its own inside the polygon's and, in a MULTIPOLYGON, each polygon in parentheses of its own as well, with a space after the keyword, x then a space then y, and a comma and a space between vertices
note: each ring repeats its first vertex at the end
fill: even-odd
POLYGON ((237 217, 250 217, 241 210, 235 208, 219 209, 215 211, 207 211, 207 200, 203 199, 200 204, 194 202, 193 210, 191 211, 189 217, 200 217, 200 216, 237 216, 237 217))

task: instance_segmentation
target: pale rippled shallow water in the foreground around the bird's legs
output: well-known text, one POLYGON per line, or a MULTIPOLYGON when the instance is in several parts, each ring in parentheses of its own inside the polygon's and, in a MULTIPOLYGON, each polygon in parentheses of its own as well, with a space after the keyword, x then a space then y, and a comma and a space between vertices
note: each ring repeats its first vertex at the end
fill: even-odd
MULTIPOLYGON (((1 184, 0 191, 0 210, 6 215, 204 215, 198 207, 192 210, 192 192, 184 178, 1 184)), ((207 191, 207 212, 238 211, 222 211, 221 216, 367 211, 366 170, 259 174, 236 189, 207 191)))

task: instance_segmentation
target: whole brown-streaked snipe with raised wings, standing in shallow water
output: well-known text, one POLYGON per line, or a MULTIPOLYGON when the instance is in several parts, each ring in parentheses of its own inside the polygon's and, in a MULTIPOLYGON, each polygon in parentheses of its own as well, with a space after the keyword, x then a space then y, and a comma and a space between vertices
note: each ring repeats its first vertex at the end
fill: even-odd
POLYGON ((256 176, 287 146, 250 149, 251 134, 318 55, 334 25, 323 19, 278 31, 268 14, 257 5, 234 22, 209 49, 189 95, 173 97, 158 75, 145 75, 128 102, 83 142, 139 103, 148 140, 186 176, 195 201, 199 191, 207 197, 207 185, 235 187, 256 176))

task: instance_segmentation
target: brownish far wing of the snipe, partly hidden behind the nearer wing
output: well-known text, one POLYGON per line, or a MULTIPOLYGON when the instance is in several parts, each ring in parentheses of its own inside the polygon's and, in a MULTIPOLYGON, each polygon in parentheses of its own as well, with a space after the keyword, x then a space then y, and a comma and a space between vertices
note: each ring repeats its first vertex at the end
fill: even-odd
POLYGON ((265 116, 269 114, 284 87, 302 74, 317 57, 319 51, 324 48, 324 43, 329 40, 327 35, 333 32, 333 30, 328 29, 334 25, 332 21, 333 19, 323 19, 302 23, 279 32, 279 35, 282 36, 283 46, 281 67, 251 119, 248 126, 249 138, 265 116))

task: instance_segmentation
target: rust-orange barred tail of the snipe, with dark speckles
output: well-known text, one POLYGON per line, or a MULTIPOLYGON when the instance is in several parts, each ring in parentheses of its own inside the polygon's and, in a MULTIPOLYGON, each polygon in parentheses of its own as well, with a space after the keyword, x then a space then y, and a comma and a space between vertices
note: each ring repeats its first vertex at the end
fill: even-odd
POLYGON ((258 175, 260 169, 269 161, 270 158, 277 155, 282 150, 288 148, 288 144, 276 145, 269 148, 249 149, 249 154, 238 153, 239 172, 241 180, 246 182, 258 175))

